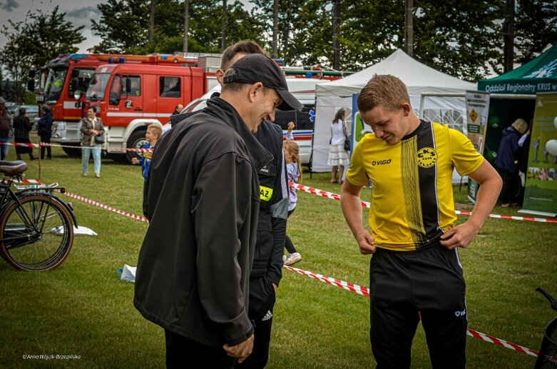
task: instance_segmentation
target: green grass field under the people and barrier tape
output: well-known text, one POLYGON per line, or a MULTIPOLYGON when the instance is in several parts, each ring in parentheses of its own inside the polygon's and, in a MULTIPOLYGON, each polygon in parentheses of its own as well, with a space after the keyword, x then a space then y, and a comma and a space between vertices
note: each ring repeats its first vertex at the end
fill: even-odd
MULTIPOLYGON (((9 159, 14 159, 14 147, 9 159)), ((27 178, 39 178, 30 161, 27 178)), ((92 171, 92 162, 90 171, 92 171)), ((41 162, 41 180, 114 208, 141 214, 143 178, 138 166, 103 160, 102 178, 81 176, 81 159, 53 148, 41 162)), ((307 186, 339 193, 329 173, 305 173, 307 186)), ((364 191, 369 200, 369 191, 364 191)), ((77 236, 56 270, 23 273, 0 259, 0 368, 160 368, 163 330, 133 308, 133 284, 115 271, 136 265, 147 224, 63 197, 80 226, 98 236, 77 236), (51 360, 25 355, 53 355, 51 360), (56 360, 56 355, 78 358, 56 360)), ((455 191, 466 203, 466 188, 455 191)), ((464 206, 466 208, 466 206, 464 206)), ((466 208, 466 210, 468 210, 466 208)), ((513 214, 496 208, 494 213, 513 214)), ((459 216, 459 222, 465 221, 459 216)), ((172 230, 169 230, 172 231, 172 230)), ((299 193, 288 234, 304 259, 295 266, 347 282, 369 285, 369 256, 359 254, 338 201, 299 193)), ((488 219, 461 261, 467 282, 469 328, 539 350, 555 313, 535 292, 557 295, 557 225, 488 219)), ((267 368, 370 368, 369 298, 284 271, 277 292, 271 357, 267 368)), ((532 356, 468 338, 469 368, 531 368, 532 356)), ((412 367, 429 368, 421 327, 412 367)))

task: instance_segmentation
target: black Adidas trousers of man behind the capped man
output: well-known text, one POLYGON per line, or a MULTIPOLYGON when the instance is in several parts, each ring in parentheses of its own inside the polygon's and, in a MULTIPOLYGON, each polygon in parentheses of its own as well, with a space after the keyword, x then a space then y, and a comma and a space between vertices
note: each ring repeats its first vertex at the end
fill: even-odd
POLYGON ((250 278, 250 307, 247 316, 255 321, 253 351, 236 368, 265 368, 269 360, 271 343, 272 310, 275 308, 275 288, 267 277, 250 278))

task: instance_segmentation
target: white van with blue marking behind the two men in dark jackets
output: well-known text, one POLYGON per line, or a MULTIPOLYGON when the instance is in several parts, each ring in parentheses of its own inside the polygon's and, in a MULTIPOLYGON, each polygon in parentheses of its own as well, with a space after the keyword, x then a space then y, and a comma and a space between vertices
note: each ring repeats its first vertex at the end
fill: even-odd
MULTIPOLYGON (((300 146, 300 159, 302 164, 311 166, 313 127, 315 123, 315 86, 326 84, 325 79, 307 79, 286 77, 288 91, 304 105, 301 111, 280 111, 275 114, 275 122, 282 127, 282 135, 286 137, 288 122, 295 124, 292 131, 294 141, 300 146)), ((182 113, 198 111, 207 106, 207 100, 215 92, 220 92, 220 85, 213 87, 208 93, 196 98, 185 106, 182 113)), ((170 123, 165 125, 165 130, 170 128, 170 123)))

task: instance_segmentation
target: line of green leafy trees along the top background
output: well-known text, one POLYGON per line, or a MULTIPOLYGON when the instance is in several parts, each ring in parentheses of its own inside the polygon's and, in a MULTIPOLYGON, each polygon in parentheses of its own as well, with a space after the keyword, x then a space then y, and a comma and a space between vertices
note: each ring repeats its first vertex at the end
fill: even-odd
MULTIPOLYGON (((275 51, 287 65, 334 64, 338 6, 338 68, 359 71, 404 49, 404 0, 108 0, 91 20, 101 43, 88 51, 118 54, 220 53, 241 39, 275 51), (273 43, 273 40, 276 40, 273 43)), ((412 48, 417 61, 451 76, 478 81, 500 74, 508 8, 513 6, 513 61, 523 64, 557 40, 552 0, 414 0, 412 48), (506 11, 507 10, 507 11, 506 11)), ((0 63, 16 84, 58 54, 78 51, 83 26, 56 6, 8 21, 0 63)), ((0 76, 1 77, 1 76, 0 76)))

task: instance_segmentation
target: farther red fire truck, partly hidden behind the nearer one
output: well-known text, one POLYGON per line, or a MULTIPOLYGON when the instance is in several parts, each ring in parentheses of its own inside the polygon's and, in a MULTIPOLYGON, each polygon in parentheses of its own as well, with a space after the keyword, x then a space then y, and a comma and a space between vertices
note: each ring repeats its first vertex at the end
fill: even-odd
MULTIPOLYGON (((66 146, 79 146, 79 121, 83 116, 76 91, 85 91, 95 69, 103 64, 184 66, 195 64, 195 59, 174 55, 121 55, 121 54, 63 54, 50 61, 39 71, 39 89, 31 81, 28 89, 35 91, 38 103, 52 108, 54 118, 52 142, 66 146)), ((78 154, 73 148, 66 153, 78 154)))

